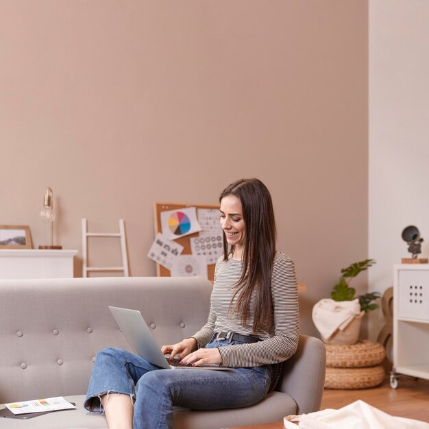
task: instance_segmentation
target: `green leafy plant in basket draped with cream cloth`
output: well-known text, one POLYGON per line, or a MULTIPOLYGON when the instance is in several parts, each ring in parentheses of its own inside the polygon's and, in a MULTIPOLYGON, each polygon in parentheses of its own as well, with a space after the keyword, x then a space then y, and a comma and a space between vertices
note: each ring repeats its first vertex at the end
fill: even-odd
POLYGON ((315 304, 313 321, 325 343, 351 345, 358 341, 362 317, 378 308, 376 300, 380 298, 380 293, 371 292, 356 297, 356 289, 350 286, 350 281, 375 263, 373 259, 365 259, 341 269, 339 282, 332 288, 331 299, 321 299, 315 304))

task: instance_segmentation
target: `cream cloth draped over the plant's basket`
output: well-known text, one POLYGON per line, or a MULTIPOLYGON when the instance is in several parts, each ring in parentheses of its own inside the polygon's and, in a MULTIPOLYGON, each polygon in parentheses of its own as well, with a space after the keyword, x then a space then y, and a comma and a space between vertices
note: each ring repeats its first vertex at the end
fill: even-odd
POLYGON ((345 330, 347 325, 360 315, 359 299, 352 301, 334 301, 321 299, 312 308, 312 321, 321 335, 329 339, 334 332, 345 330))

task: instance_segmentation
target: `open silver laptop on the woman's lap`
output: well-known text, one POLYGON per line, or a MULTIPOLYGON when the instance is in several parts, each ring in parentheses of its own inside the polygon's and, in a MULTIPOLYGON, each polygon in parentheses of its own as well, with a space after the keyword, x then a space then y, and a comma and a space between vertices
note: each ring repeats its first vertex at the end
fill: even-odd
POLYGON ((228 371, 228 367, 219 367, 219 365, 201 365, 199 367, 170 365, 169 360, 162 354, 160 346, 147 328, 140 311, 112 306, 109 306, 109 310, 134 352, 152 365, 165 369, 220 369, 228 371))

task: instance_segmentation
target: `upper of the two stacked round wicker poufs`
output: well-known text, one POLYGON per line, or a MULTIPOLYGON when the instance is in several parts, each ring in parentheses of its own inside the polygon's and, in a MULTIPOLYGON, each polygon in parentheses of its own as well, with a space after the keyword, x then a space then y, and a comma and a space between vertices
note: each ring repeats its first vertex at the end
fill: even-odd
POLYGON ((369 340, 359 340, 352 345, 326 344, 327 367, 373 367, 382 363, 384 356, 384 347, 369 340))

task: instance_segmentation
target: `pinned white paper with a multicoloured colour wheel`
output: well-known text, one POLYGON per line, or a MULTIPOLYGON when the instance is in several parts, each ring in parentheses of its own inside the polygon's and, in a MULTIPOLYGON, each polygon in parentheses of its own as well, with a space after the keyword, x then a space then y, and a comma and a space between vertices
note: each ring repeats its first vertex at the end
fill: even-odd
POLYGON ((161 228, 165 238, 175 240, 201 231, 195 207, 179 208, 161 212, 161 228))

